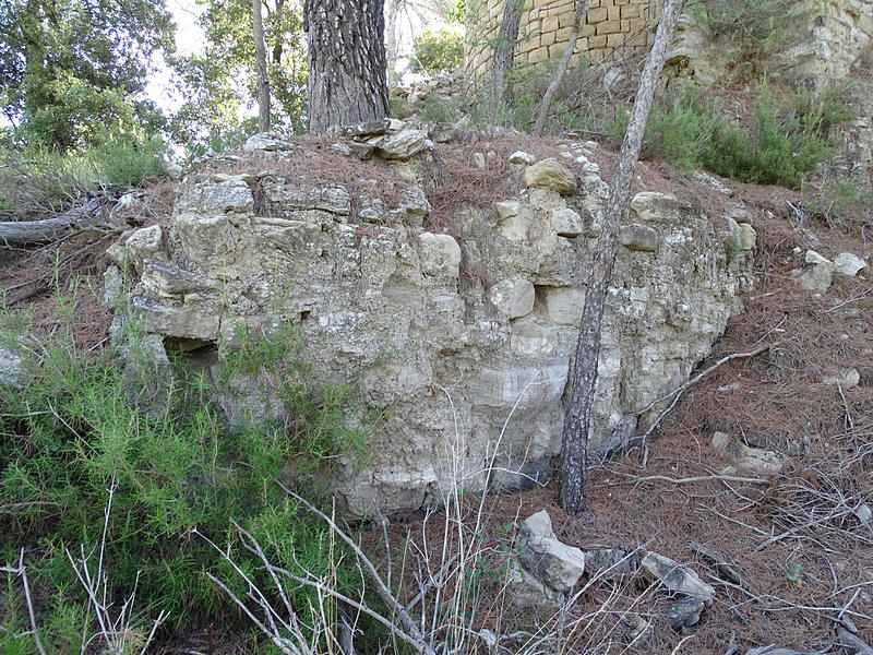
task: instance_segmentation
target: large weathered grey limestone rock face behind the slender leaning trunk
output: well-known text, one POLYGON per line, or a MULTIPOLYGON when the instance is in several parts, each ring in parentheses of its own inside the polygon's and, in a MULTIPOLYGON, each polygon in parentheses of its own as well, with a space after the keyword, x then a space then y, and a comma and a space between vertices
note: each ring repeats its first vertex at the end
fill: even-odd
MULTIPOLYGON (((422 134, 376 128, 384 131, 356 139, 404 156, 430 147, 422 134)), ((298 144, 291 156, 307 153, 298 144)), ((240 327, 267 333, 296 323, 308 364, 354 382, 356 402, 387 417, 367 444, 366 468, 336 467, 331 484, 347 515, 415 510, 452 486, 542 481, 560 454, 569 366, 608 194, 590 167, 546 165, 553 170, 502 198, 497 216, 464 205, 457 238, 427 231, 433 199, 411 179, 398 200, 330 179, 195 170, 181 183, 162 248, 152 235, 155 248, 127 272, 127 305, 146 333, 192 352, 232 348, 240 327)), ((619 249, 593 457, 648 428, 662 406, 637 410, 709 354, 738 311, 740 281, 751 276, 750 260, 729 257, 725 235, 673 196, 637 194, 629 222, 656 233, 657 248, 619 249)), ((280 416, 273 393, 280 383, 235 381, 243 392, 222 404, 228 416, 244 416, 247 406, 253 416, 280 416)))

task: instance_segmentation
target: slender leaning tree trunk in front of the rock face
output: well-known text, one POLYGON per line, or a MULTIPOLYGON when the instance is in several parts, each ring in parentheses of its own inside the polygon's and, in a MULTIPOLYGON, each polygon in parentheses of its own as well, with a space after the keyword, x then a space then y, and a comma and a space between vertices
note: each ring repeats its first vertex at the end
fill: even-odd
POLYGON ((585 464, 588 457, 588 429, 597 382, 597 359, 600 355, 600 325, 603 319, 607 288, 612 279, 615 253, 619 245, 619 228, 627 211, 636 160, 643 145, 651 100, 658 85, 667 49, 673 40, 679 14, 684 0, 666 0, 655 44, 646 59, 639 78, 627 132, 621 144, 619 164, 609 188, 606 216, 600 237, 595 247, 595 260, 585 291, 579 340, 570 381, 570 393, 564 408, 564 430, 561 453, 561 485, 559 502, 570 514, 585 509, 585 464))

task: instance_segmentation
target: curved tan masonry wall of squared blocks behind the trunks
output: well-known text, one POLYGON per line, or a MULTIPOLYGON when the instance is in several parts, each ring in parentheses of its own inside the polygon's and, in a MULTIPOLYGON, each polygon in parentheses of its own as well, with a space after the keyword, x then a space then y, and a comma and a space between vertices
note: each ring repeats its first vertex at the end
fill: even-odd
MULTIPOLYGON (((470 5, 467 34, 470 78, 480 78, 491 66, 503 4, 503 0, 477 0, 470 5)), ((629 53, 647 51, 655 37, 651 28, 657 24, 661 4, 661 0, 594 0, 574 59, 581 52, 588 52, 596 63, 615 49, 629 53)), ((557 61, 566 47, 574 17, 572 0, 527 0, 518 31, 516 61, 557 61)))

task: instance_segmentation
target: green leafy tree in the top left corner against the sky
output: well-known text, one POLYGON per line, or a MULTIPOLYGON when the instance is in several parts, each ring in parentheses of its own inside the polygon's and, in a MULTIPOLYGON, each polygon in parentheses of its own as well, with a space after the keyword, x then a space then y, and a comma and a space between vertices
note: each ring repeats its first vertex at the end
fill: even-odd
POLYGON ((28 143, 65 152, 160 126, 143 92, 174 45, 164 0, 4 0, 0 33, 0 108, 28 143))

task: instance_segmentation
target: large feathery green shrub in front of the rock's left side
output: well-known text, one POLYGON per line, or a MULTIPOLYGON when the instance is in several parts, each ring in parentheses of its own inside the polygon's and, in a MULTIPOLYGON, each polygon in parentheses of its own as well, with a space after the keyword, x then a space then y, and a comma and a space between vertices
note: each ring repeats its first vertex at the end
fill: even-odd
MULTIPOLYGON (((4 341, 27 343, 12 336, 23 325, 21 317, 11 318, 15 321, 0 317, 4 341)), ((170 384, 163 408, 137 409, 130 402, 129 371, 118 355, 74 350, 64 332, 70 324, 34 348, 41 355, 29 362, 32 384, 24 390, 0 386, 0 565, 17 562, 25 548, 40 636, 50 652, 80 652, 86 598, 65 551, 77 553, 84 545, 88 553, 99 546, 112 485, 105 545, 108 591, 119 607, 136 585, 141 624, 160 611, 169 612, 167 629, 206 618, 239 620, 230 599, 204 572, 225 580, 235 575, 198 536, 208 536, 254 580, 262 580, 263 571, 234 538, 231 521, 270 548, 277 564, 338 576, 340 590, 360 585, 356 572, 337 571, 340 549, 328 553, 323 547, 327 527, 301 512, 275 480, 294 486, 303 474, 324 468, 348 452, 347 446, 358 448, 373 420, 364 416, 348 428, 355 416, 349 388, 319 386, 310 381, 314 376, 285 374, 309 370, 308 365, 278 368, 286 356, 302 355, 290 330, 272 341, 243 335, 235 352, 228 352, 226 366, 229 376, 264 372, 263 367, 282 370, 291 429, 248 425, 231 433, 198 376, 170 384), (290 346, 285 337, 291 337, 290 346), (290 477, 289 464, 296 471, 290 477)), ((137 389, 164 374, 145 360, 136 368, 137 389)), ((311 491, 313 485, 306 479, 311 491)), ((0 582, 0 624, 24 631, 28 619, 20 584, 2 576, 0 582)), ((244 596, 244 588, 231 588, 244 596)), ((306 620, 310 602, 318 605, 314 596, 299 588, 288 593, 306 620)), ((32 638, 0 631, 0 652, 32 651, 32 638)))

